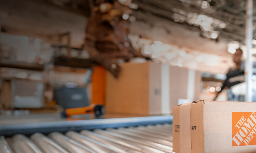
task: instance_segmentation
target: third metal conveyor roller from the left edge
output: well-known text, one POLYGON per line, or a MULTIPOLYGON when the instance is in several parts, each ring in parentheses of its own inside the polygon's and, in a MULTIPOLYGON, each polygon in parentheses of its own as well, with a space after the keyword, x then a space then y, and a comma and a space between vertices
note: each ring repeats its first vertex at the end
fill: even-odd
POLYGON ((44 153, 69 153, 61 148, 53 140, 49 139, 41 133, 33 134, 30 139, 42 150, 44 153))

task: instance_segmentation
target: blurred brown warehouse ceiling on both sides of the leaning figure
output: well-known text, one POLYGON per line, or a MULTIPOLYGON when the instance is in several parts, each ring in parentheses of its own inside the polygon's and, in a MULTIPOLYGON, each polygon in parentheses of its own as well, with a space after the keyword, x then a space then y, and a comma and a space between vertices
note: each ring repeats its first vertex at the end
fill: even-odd
MULTIPOLYGON (((134 36, 161 41, 187 52, 228 58, 231 57, 227 51, 229 42, 244 43, 246 0, 132 2, 138 5, 130 22, 134 36)), ((1 31, 38 37, 53 44, 58 44, 58 34, 70 32, 72 47, 81 48, 89 6, 89 0, 0 0, 1 31)))

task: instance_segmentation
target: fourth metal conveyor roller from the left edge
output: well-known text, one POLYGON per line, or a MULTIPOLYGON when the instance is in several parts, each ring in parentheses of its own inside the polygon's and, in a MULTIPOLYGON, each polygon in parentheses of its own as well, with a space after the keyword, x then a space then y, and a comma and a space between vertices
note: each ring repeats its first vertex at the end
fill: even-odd
POLYGON ((53 132, 48 135, 49 138, 54 140, 57 144, 59 144, 62 148, 66 149, 70 153, 95 153, 94 151, 84 147, 83 145, 71 140, 65 135, 53 132))

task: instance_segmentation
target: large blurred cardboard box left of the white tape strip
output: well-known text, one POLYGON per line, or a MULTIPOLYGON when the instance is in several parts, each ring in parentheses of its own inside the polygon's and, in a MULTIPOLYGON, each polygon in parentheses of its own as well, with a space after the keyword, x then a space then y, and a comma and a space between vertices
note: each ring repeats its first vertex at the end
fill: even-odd
POLYGON ((118 79, 108 73, 105 111, 161 114, 161 64, 124 63, 118 79))

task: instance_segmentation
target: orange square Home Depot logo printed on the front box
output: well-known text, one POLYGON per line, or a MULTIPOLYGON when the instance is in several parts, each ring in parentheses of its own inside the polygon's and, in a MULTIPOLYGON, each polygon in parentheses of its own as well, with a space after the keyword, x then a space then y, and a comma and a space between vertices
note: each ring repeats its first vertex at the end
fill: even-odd
POLYGON ((256 145, 256 113, 232 112, 232 146, 256 145))

